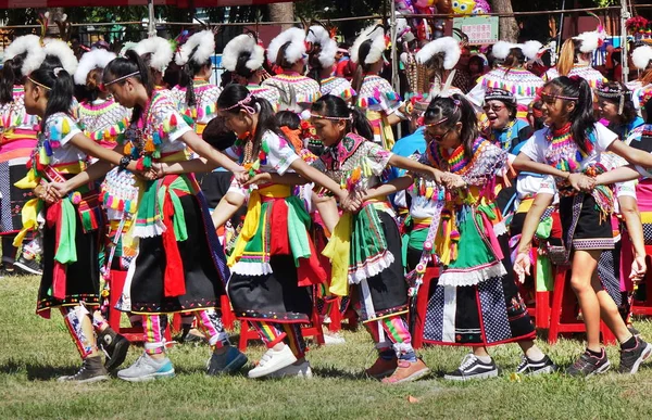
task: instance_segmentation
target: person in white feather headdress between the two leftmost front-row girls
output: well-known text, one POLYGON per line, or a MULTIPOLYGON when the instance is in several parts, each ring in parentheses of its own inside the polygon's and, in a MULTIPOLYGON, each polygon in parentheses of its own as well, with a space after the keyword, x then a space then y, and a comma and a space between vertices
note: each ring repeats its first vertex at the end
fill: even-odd
POLYGON ((78 123, 84 133, 108 149, 115 148, 115 139, 127 128, 131 113, 113 97, 102 91, 102 72, 115 54, 103 49, 86 52, 74 75, 75 85, 84 86, 89 99, 77 107, 78 123))

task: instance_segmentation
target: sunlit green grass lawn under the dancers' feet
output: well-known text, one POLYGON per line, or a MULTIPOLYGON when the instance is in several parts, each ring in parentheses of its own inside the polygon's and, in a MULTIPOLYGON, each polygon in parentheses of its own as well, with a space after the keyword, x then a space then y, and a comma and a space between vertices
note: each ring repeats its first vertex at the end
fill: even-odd
MULTIPOLYGON (((518 364, 515 344, 491 349, 506 372, 498 379, 448 383, 437 379, 454 369, 465 349, 428 347, 421 352, 434 378, 406 385, 386 386, 361 372, 375 358, 364 331, 343 334, 347 344, 316 347, 309 359, 312 381, 208 378, 206 346, 176 345, 170 351, 177 377, 150 383, 113 379, 90 385, 60 384, 60 374, 73 373, 79 358, 61 316, 45 320, 34 314, 38 279, 0 279, 0 419, 113 418, 113 419, 602 419, 652 417, 652 367, 635 377, 607 373, 590 380, 560 374, 517 379, 510 374, 518 364), (410 402, 412 396, 416 400, 410 402)), ((652 323, 636 322, 652 336, 652 323)), ((561 340, 542 347, 559 364, 567 365, 582 343, 561 340)), ((617 347, 610 347, 617 365, 617 347)), ((127 364, 141 349, 133 347, 127 364)), ((256 359, 260 345, 250 346, 256 359)))

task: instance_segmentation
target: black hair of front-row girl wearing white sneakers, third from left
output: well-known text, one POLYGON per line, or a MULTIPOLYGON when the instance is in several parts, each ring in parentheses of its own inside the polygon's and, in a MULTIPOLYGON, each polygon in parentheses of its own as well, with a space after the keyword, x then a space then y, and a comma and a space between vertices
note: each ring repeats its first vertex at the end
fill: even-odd
POLYGON ((263 136, 266 131, 272 131, 280 137, 284 137, 284 135, 278 127, 272 104, 264 98, 252 96, 244 86, 237 84, 228 85, 224 88, 220 98, 217 98, 217 109, 228 109, 226 112, 230 114, 238 114, 243 110, 243 105, 251 106, 258 113, 258 126, 255 127, 255 135, 253 137, 253 155, 258 156, 263 136), (247 103, 238 104, 244 101, 247 97, 250 97, 247 103))

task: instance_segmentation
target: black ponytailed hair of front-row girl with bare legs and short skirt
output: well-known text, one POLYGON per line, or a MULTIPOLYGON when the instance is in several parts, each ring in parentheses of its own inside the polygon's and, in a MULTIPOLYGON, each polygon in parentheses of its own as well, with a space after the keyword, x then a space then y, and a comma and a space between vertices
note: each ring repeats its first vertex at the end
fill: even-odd
MULTIPOLYGON (((593 131, 595 125, 593 92, 588 81, 580 77, 561 76, 547 82, 543 86, 543 89, 546 88, 553 89, 553 94, 578 98, 575 101, 575 109, 568 114, 568 120, 570 122, 570 131, 573 132, 575 144, 577 144, 579 150, 588 153, 588 135, 593 131)), ((568 102, 568 100, 563 101, 564 104, 568 102)))

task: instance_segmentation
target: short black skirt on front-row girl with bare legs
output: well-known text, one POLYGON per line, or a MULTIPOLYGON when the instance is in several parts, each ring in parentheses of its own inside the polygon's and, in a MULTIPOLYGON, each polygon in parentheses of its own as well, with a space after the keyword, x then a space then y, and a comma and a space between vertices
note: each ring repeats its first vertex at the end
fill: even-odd
POLYGON ((591 194, 561 198, 560 218, 568 252, 614 249, 611 215, 604 217, 600 214, 591 194))

